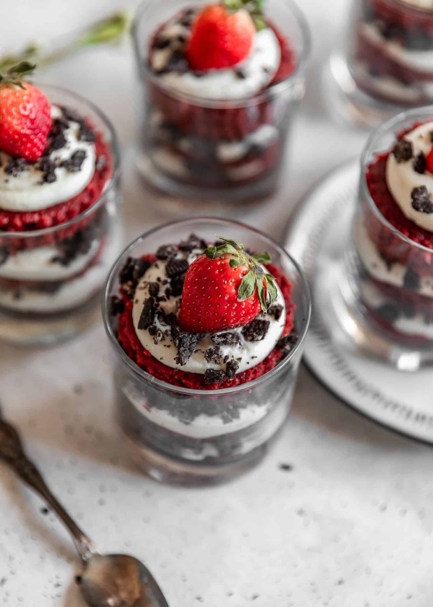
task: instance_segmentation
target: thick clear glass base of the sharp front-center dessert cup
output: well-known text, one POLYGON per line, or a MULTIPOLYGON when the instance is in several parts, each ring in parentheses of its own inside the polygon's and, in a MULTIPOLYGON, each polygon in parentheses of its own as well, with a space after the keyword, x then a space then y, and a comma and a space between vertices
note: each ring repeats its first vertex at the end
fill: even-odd
POLYGON ((141 472, 158 483, 204 487, 226 483, 257 466, 269 451, 278 434, 279 432, 238 461, 224 465, 209 464, 208 466, 203 463, 188 463, 185 460, 181 461, 159 453, 152 447, 135 443, 124 432, 122 432, 122 440, 132 453, 135 465, 141 472))

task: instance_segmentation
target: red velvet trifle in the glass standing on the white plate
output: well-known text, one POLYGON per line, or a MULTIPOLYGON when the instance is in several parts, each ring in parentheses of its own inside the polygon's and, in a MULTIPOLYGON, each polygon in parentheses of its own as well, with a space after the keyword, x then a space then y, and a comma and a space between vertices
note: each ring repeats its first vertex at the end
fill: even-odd
POLYGON ((377 129, 362 166, 354 223, 361 303, 391 341, 431 350, 433 107, 377 129))

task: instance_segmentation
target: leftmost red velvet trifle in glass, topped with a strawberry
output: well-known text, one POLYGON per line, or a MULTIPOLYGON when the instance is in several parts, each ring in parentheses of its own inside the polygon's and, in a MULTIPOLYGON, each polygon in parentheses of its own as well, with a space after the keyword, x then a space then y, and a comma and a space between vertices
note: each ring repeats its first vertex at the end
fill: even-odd
POLYGON ((0 81, 0 336, 53 342, 95 318, 119 250, 118 151, 63 89, 0 81))

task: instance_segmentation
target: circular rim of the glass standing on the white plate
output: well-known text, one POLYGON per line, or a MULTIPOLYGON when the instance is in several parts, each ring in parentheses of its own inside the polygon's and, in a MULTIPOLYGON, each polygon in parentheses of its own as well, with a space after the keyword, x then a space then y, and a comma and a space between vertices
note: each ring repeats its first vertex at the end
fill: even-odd
MULTIPOLYGON (((415 240, 410 239, 408 236, 404 236, 404 234, 402 232, 400 232, 400 230, 398 228, 395 228, 395 226, 393 226, 392 223, 390 223, 388 221, 388 219, 386 219, 386 217, 384 217, 384 215, 381 214, 376 203, 374 202, 374 200, 372 198, 372 195, 370 194, 370 190, 369 190, 368 183, 367 183, 366 170, 365 170, 368 166, 367 157, 369 154, 371 154, 371 152, 372 152, 371 148, 374 145, 374 143, 380 137, 385 135, 387 132, 392 131, 392 134, 396 135, 396 129, 398 127, 398 124, 401 123, 401 121, 408 120, 411 117, 413 117, 414 120, 416 120, 416 117, 418 117, 418 118, 420 117, 420 112, 425 112, 426 114, 431 114, 432 121, 433 121, 433 104, 429 105, 429 106, 414 107, 410 110, 403 110, 403 112, 399 112, 398 114, 395 114, 394 116, 392 116, 385 122, 381 123, 369 135, 368 140, 366 141, 366 144, 364 145, 363 151, 361 153, 360 185, 363 188, 364 198, 369 203, 369 207, 370 207, 371 211, 375 214, 377 219, 380 220, 380 222, 383 223, 383 225, 387 229, 389 229, 389 231, 391 231, 395 236, 397 236, 401 240, 403 240, 403 242, 406 242, 408 245, 414 246, 414 247, 420 249, 421 251, 425 251, 426 253, 433 254, 433 249, 429 249, 427 246, 420 245, 420 243, 415 242, 415 240)), ((419 226, 419 227, 421 228, 421 226, 419 226)))

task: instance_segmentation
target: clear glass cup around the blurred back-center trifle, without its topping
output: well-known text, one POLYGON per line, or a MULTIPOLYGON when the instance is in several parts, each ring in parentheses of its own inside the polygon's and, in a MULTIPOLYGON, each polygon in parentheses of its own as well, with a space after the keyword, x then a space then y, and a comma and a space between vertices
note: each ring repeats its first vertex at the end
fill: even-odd
POLYGON ((296 5, 267 0, 266 14, 294 50, 292 73, 252 97, 234 100, 177 92, 149 68, 150 42, 167 19, 204 4, 209 2, 147 1, 133 30, 139 172, 159 190, 195 200, 201 209, 209 200, 249 202, 277 188, 291 120, 304 94, 309 55, 307 24, 296 5))

